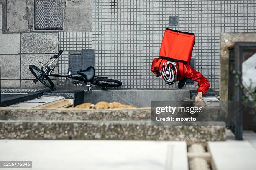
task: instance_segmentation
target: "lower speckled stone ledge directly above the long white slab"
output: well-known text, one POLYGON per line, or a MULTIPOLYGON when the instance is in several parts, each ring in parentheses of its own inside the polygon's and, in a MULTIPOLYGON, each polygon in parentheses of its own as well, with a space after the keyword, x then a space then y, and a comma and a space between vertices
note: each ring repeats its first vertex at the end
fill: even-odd
POLYGON ((0 139, 225 140, 225 126, 152 126, 151 121, 0 120, 0 139))

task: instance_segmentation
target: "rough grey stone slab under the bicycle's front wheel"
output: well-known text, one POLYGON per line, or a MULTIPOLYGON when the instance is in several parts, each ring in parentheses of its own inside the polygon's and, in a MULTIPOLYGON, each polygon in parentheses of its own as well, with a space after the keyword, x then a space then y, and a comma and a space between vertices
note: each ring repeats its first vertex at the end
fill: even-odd
MULTIPOLYGON (((31 71, 29 70, 29 65, 37 65, 39 62, 46 63, 50 60, 52 54, 22 54, 21 55, 21 79, 35 79, 31 71)), ((56 65, 56 62, 53 63, 56 65)), ((42 67, 42 64, 38 64, 38 68, 42 67)), ((54 69, 54 74, 58 73, 58 68, 54 69)), ((56 77, 51 77, 51 79, 56 79, 56 77)))

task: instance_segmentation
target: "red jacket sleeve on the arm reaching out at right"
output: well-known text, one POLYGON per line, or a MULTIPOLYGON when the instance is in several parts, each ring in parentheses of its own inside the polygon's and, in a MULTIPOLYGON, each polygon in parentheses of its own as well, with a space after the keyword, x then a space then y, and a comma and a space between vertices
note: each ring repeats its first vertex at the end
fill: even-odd
POLYGON ((184 77, 197 81, 199 86, 197 92, 202 92, 202 94, 205 94, 210 87, 209 81, 188 64, 184 64, 184 77))

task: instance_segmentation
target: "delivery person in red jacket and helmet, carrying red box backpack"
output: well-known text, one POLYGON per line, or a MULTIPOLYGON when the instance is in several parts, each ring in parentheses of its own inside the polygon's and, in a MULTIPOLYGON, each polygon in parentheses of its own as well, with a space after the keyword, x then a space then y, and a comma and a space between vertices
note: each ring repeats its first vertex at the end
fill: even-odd
POLYGON ((167 28, 160 48, 160 57, 153 60, 151 72, 156 77, 161 75, 169 85, 179 81, 178 88, 184 87, 187 79, 197 81, 199 87, 195 100, 198 101, 208 91, 210 83, 189 65, 194 43, 194 34, 167 28))

